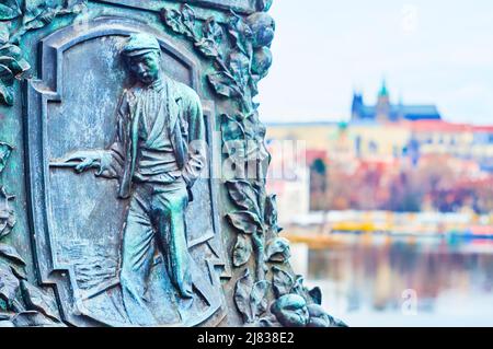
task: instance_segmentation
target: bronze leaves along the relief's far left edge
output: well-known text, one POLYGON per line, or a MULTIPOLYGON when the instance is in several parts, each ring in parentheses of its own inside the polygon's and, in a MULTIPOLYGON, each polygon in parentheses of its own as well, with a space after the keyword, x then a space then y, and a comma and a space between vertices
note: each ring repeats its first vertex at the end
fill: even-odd
MULTIPOLYGON (((0 103, 14 104, 13 86, 31 69, 20 48, 22 36, 50 24, 55 18, 82 11, 84 1, 69 7, 57 0, 2 0, 0 3, 0 103)), ((13 147, 0 142, 0 174, 13 147)), ((15 225, 14 196, 0 185, 0 327, 64 326, 55 298, 27 281, 25 260, 3 241, 15 225)))

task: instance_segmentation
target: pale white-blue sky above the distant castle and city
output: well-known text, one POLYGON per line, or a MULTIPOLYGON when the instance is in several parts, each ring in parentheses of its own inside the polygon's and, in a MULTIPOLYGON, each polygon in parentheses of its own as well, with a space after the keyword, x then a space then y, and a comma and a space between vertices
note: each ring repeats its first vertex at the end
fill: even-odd
POLYGON ((493 1, 275 0, 264 121, 344 120, 353 90, 374 103, 436 104, 444 118, 493 125, 493 1))

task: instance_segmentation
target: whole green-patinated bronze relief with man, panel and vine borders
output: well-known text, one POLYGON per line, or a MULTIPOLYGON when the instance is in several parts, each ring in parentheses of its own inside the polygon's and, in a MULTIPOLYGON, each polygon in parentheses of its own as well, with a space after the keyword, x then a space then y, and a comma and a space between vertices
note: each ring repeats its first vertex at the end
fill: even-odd
POLYGON ((271 4, 0 8, 0 324, 343 325, 265 190, 271 4))

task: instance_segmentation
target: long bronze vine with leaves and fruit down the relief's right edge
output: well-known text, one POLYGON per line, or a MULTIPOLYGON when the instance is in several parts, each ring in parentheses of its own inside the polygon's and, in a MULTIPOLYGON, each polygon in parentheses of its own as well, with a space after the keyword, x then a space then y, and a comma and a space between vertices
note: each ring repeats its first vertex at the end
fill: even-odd
MULTIPOLYGON (((272 1, 257 1, 257 10, 267 11, 271 4, 272 1)), ((232 265, 244 268, 234 288, 234 303, 244 323, 343 326, 321 307, 320 289, 308 290, 302 277, 294 276, 289 269, 289 242, 278 236, 282 229, 277 225, 276 196, 265 193, 271 156, 253 97, 272 65, 273 19, 265 12, 245 19, 231 12, 227 23, 219 24, 214 18, 197 20, 187 4, 181 10, 163 9, 161 14, 171 31, 192 40, 213 61, 214 71, 207 74, 213 91, 238 107, 233 115, 221 116, 221 135, 234 173, 226 188, 236 209, 226 219, 238 232, 232 265), (249 269, 252 256, 254 275, 249 269), (276 301, 268 306, 272 293, 276 301)))

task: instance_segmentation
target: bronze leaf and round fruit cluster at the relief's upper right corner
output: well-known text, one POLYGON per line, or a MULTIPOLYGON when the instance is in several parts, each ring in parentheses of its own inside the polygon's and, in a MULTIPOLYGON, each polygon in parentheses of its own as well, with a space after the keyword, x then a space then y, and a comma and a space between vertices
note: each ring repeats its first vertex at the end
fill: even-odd
POLYGON ((207 75, 214 91, 238 102, 241 113, 253 113, 257 107, 252 102, 257 94, 256 84, 272 65, 268 47, 274 38, 274 20, 265 12, 243 20, 231 11, 223 27, 214 18, 200 23, 187 4, 180 11, 163 9, 161 14, 167 26, 185 35, 204 57, 214 61, 215 71, 207 75))

